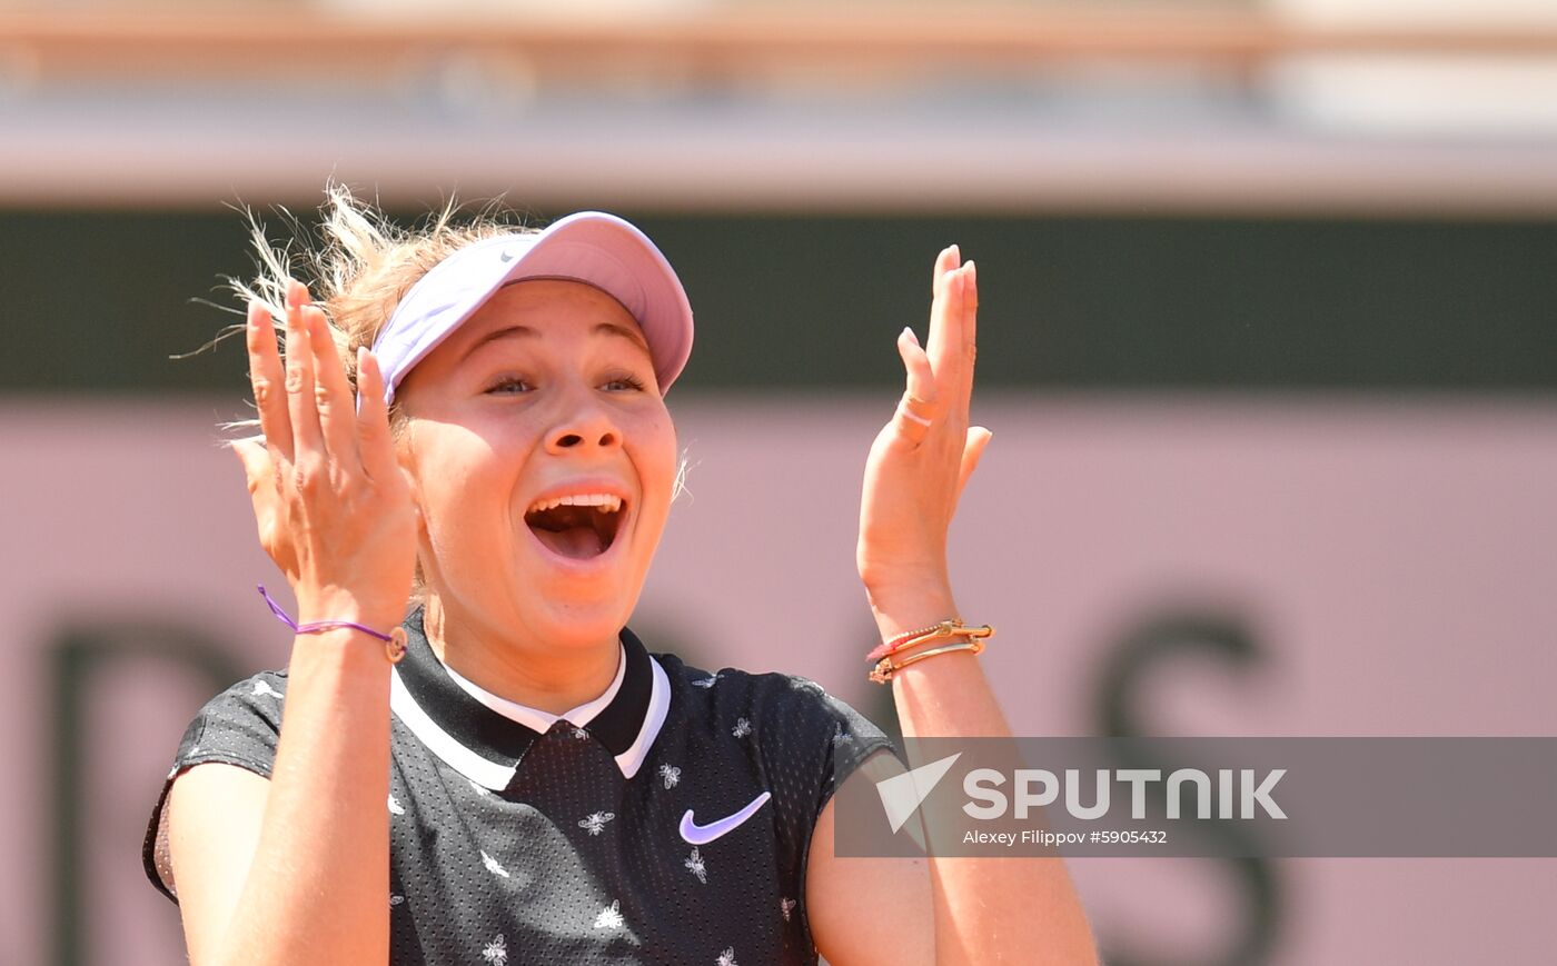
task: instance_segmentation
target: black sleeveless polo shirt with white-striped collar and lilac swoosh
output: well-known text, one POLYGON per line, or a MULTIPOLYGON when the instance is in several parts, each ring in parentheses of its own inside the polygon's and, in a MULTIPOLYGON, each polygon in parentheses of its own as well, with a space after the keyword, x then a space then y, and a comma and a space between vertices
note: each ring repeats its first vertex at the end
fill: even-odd
MULTIPOLYGON (((889 739, 807 678, 710 674, 621 632, 617 680, 553 717, 453 675, 405 621, 391 675, 391 963, 816 963, 811 829, 889 739)), ((176 899, 162 823, 182 770, 269 776, 285 672, 227 689, 190 725, 146 831, 176 899)))

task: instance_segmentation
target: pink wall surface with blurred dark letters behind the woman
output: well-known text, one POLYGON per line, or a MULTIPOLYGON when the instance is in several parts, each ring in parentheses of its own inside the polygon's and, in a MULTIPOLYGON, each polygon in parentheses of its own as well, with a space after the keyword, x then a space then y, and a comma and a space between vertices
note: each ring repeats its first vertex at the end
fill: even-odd
MULTIPOLYGON (((880 716, 853 571, 864 454, 895 400, 671 397, 690 493, 635 628, 693 663, 783 669, 880 716)), ((78 692, 87 963, 181 961, 140 834, 215 688, 156 656, 201 635, 248 674, 286 660, 227 401, 0 408, 0 884, 6 961, 47 963, 64 857, 53 688, 70 628, 117 641, 78 692), (140 628, 134 635, 132 630, 140 628), (145 644, 145 647, 142 647, 145 644)), ((1554 734, 1557 406, 1305 397, 987 397, 993 443, 951 541, 962 616, 1021 734, 1093 734, 1121 641, 1174 614, 1250 644, 1138 666, 1115 694, 1154 734, 1554 734), (1112 663, 1112 664, 1110 664, 1112 663)), ((290 594, 277 594, 290 605, 290 594)), ((1210 860, 1073 860, 1099 935, 1140 963, 1205 963, 1250 922, 1210 860)), ((1551 860, 1272 860, 1274 964, 1545 963, 1551 860)))

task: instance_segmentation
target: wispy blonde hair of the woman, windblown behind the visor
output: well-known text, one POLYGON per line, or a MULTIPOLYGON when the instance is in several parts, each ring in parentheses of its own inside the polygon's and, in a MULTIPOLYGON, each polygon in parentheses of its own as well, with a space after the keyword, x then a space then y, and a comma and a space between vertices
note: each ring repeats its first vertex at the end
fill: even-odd
MULTIPOLYGON (((229 277, 227 288, 238 297, 240 305, 258 300, 269 310, 272 319, 280 320, 285 317, 288 280, 296 278, 307 285, 315 305, 324 311, 335 352, 353 394, 357 348, 360 345, 372 348, 378 331, 422 275, 476 241, 540 230, 525 226, 518 213, 500 202, 489 202, 472 215, 462 215, 452 196, 420 224, 405 229, 394 224, 375 205, 358 201, 350 188, 333 180, 324 188, 316 240, 310 240, 288 212, 280 213, 294 230, 293 240, 277 247, 258 216, 252 210, 246 212, 257 274, 251 280, 229 277)), ((232 325, 218 336, 218 341, 243 330, 241 322, 232 325)), ((277 334, 285 342, 285 333, 279 325, 277 334)), ((395 397, 389 404, 389 432, 395 440, 403 437, 408 422, 400 397, 395 397)), ((232 420, 221 423, 221 428, 229 432, 249 432, 238 440, 227 440, 227 445, 265 439, 263 432, 257 432, 258 418, 232 420)), ((673 501, 687 492, 687 468, 684 454, 676 470, 673 501)), ((416 563, 411 599, 424 604, 427 600, 420 557, 416 563)))

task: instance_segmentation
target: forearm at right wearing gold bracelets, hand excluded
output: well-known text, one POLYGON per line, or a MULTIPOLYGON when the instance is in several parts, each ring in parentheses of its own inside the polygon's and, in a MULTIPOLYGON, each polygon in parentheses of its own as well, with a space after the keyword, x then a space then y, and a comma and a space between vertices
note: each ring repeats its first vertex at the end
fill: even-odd
MULTIPOLYGON (((948 594, 873 607, 883 639, 958 613, 948 594)), ((905 737, 1010 737, 982 663, 972 653, 937 655, 895 672, 892 697, 905 737)), ((1098 961, 1063 860, 933 854, 930 877, 937 964, 1098 961)))

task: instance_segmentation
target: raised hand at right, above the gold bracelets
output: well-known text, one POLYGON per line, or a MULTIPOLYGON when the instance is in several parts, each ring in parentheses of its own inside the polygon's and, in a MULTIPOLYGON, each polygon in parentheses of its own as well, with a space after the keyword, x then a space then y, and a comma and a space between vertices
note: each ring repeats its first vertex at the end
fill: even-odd
POLYGON ((956 246, 936 258, 930 339, 897 338, 908 387, 866 462, 856 563, 878 621, 953 616, 947 530, 990 431, 968 426, 978 334, 978 275, 956 246), (897 619, 887 619, 895 616, 897 619))

